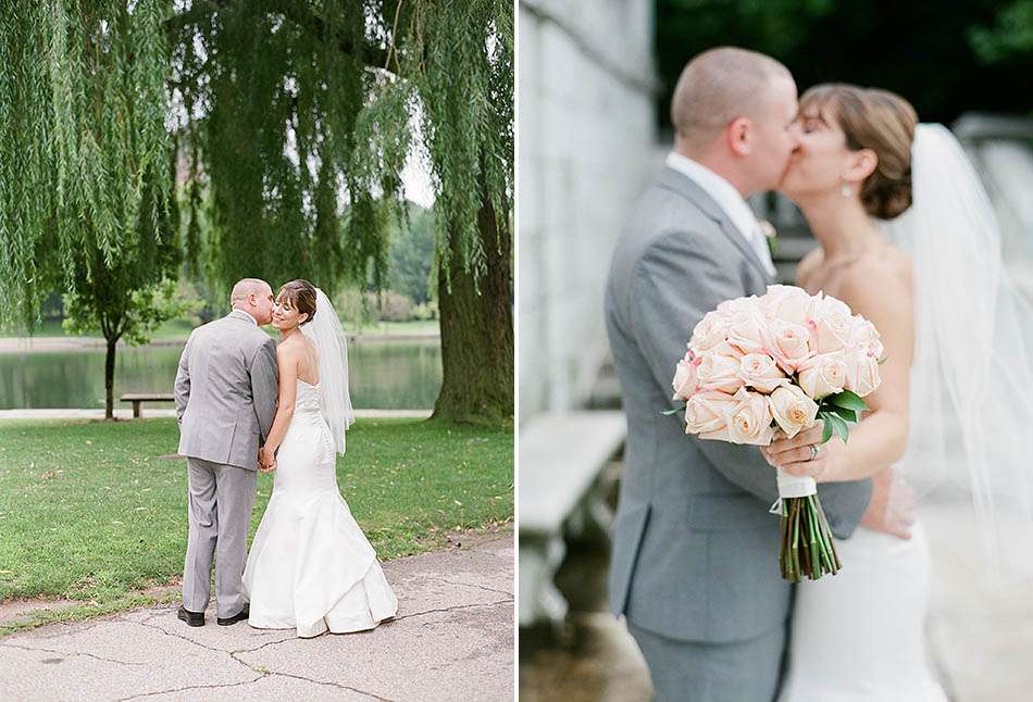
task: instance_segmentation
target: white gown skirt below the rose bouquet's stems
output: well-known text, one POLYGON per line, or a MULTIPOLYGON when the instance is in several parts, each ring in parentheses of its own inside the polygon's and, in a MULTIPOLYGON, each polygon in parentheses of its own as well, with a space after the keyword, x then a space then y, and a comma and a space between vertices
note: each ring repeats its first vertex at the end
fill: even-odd
POLYGON ((796 586, 780 702, 946 702, 926 662, 922 524, 909 541, 858 527, 835 546, 843 569, 796 586))

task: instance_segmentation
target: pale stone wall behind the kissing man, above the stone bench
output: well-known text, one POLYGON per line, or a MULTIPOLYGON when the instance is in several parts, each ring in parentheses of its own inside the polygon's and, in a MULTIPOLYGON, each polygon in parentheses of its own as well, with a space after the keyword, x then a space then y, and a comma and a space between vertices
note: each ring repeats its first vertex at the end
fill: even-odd
POLYGON ((652 4, 520 1, 521 421, 581 405, 607 355, 610 254, 657 167, 652 4))

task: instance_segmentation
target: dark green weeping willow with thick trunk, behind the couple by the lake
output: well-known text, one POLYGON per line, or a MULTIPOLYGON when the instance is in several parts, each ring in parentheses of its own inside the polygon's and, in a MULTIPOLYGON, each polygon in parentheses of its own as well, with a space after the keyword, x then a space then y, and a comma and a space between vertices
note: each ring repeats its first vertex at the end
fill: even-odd
POLYGON ((188 265, 223 289, 245 276, 379 288, 402 170, 422 154, 435 416, 511 417, 512 3, 195 0, 170 26, 188 265))

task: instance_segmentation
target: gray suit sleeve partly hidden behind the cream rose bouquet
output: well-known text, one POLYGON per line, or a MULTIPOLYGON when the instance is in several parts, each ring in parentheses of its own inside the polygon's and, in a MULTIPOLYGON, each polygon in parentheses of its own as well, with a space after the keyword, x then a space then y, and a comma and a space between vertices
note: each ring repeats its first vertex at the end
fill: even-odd
MULTIPOLYGON (((704 315, 724 300, 744 296, 737 271, 720 261, 688 231, 661 235, 645 251, 635 268, 628 312, 635 338, 652 376, 665 397, 685 344, 704 315)), ((670 408, 677 406, 673 400, 670 408)), ((682 422, 679 415, 658 422, 682 422)), ((695 441, 699 451, 731 482, 770 505, 779 497, 774 469, 757 447, 725 441, 695 441)), ((871 480, 826 484, 821 500, 830 527, 848 537, 860 522, 871 494, 871 480)))

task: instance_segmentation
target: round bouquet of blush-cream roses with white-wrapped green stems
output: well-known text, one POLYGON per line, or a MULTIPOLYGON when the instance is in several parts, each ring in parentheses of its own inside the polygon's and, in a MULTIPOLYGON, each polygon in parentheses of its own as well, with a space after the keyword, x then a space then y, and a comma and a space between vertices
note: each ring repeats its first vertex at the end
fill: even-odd
MULTIPOLYGON (((879 387, 883 346, 871 322, 841 300, 775 285, 762 297, 729 300, 693 330, 674 374, 685 400, 685 433, 768 446, 818 419, 822 442, 847 440, 848 422, 879 387)), ((667 412, 672 414, 677 410, 667 412)), ((777 472, 782 577, 812 580, 842 567, 811 477, 777 472)))

